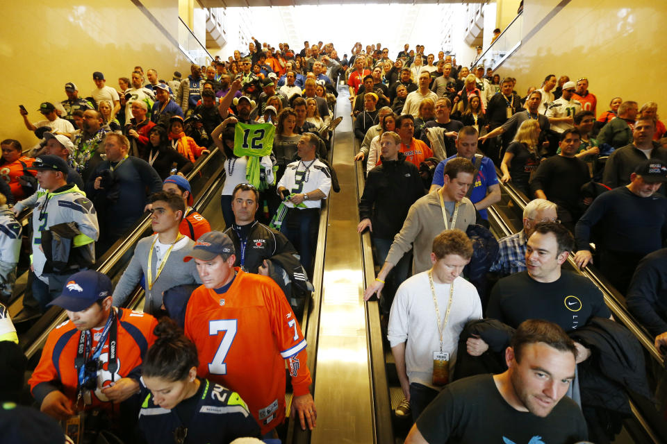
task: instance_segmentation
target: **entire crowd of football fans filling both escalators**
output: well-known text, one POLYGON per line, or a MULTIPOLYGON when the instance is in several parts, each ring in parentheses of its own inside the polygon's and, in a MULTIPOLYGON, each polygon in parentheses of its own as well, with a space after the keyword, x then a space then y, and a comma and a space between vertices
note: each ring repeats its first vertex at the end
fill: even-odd
MULTIPOLYGON (((96 71, 90 96, 67 83, 67 99, 42 103, 40 121, 20 107, 39 141, 1 142, 0 302, 15 296, 16 218, 31 209, 23 320, 52 306, 69 318, 49 332, 28 381, 40 410, 79 443, 272 443, 289 373, 290 414, 316 426, 298 319, 320 209, 338 190, 328 153, 339 79, 354 159, 368 172, 357 228, 370 230, 379 272, 364 298, 380 299, 404 393, 395 414, 414 422, 406 443, 613 439, 627 385, 650 395, 641 345, 597 287, 561 268, 570 253, 582 267, 600 262, 656 346, 667 345, 657 105, 615 98, 598 117, 586 78, 549 75, 521 98, 514 78, 408 44, 394 60, 379 43, 340 59, 331 43, 296 51, 253 37, 245 53, 192 65, 186 78, 136 66, 115 89, 96 71), (224 232, 192 208, 184 176, 215 148, 224 232), (530 202, 522 230, 495 241, 486 209, 500 201, 499 182, 530 202), (114 286, 96 259, 145 211, 154 234, 114 286), (143 310, 124 308, 137 286, 143 310)), ((11 363, 0 393, 22 402, 17 344, 0 304, 11 363)))

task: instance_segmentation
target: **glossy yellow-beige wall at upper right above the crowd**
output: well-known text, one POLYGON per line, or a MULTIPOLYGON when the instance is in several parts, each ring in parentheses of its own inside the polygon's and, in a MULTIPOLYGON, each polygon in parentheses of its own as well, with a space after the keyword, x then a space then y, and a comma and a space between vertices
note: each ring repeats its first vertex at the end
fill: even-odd
MULTIPOLYGON (((526 35, 559 0, 525 0, 526 35)), ((658 103, 667 116, 664 76, 664 35, 667 6, 656 0, 573 0, 497 69, 500 77, 514 76, 524 95, 539 87, 547 74, 571 80, 587 77, 598 97, 598 114, 608 110, 614 96, 658 103)))

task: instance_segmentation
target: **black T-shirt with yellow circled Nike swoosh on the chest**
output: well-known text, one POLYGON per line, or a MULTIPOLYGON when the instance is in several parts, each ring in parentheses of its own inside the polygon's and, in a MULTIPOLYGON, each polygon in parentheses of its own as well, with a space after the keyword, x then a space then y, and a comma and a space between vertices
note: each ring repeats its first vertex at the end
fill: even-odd
POLYGON ((527 271, 499 280, 491 291, 486 316, 517 328, 527 319, 544 319, 570 332, 593 316, 609 318, 602 293, 590 280, 561 271, 554 282, 537 282, 527 271))

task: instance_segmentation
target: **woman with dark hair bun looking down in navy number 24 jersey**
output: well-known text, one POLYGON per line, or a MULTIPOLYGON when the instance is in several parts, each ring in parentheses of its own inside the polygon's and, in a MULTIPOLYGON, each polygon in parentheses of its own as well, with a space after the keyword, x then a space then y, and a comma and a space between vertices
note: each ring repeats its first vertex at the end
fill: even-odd
POLYGON ((155 334, 142 364, 138 428, 147 443, 227 444, 259 436, 238 393, 197 377, 197 348, 174 321, 160 319, 155 334))

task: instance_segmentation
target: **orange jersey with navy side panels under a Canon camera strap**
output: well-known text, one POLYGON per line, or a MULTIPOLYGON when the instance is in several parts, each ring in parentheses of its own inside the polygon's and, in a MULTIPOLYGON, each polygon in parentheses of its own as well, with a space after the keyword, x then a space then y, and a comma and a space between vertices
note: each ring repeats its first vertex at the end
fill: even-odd
MULTIPOLYGON (((138 367, 146 354, 146 350, 155 342, 155 329, 158 321, 149 314, 140 311, 131 311, 128 309, 118 309, 119 322, 117 329, 117 362, 118 370, 114 375, 117 381, 122 377, 132 375, 133 379, 139 380, 141 373, 138 367)), ((88 344, 90 357, 91 350, 97 346, 99 336, 103 329, 93 330, 92 347, 88 344), (95 334, 97 332, 97 334, 95 334)), ((47 343, 42 350, 42 357, 35 368, 28 384, 33 395, 35 387, 40 384, 56 385, 60 382, 63 386, 63 393, 72 400, 76 401, 76 387, 79 382, 79 375, 74 366, 76 359, 76 349, 79 347, 79 335, 81 332, 76 330, 72 321, 66 321, 58 327, 51 330, 47 343)), ((101 370, 97 371, 97 388, 94 392, 84 393, 83 402, 85 408, 104 407, 111 409, 112 403, 101 392, 101 388, 111 383, 111 373, 108 371, 109 344, 108 339, 101 350, 99 359, 102 362, 101 370)), ((42 393, 42 391, 40 391, 42 393)), ((41 398, 38 396, 38 398, 41 398)))

